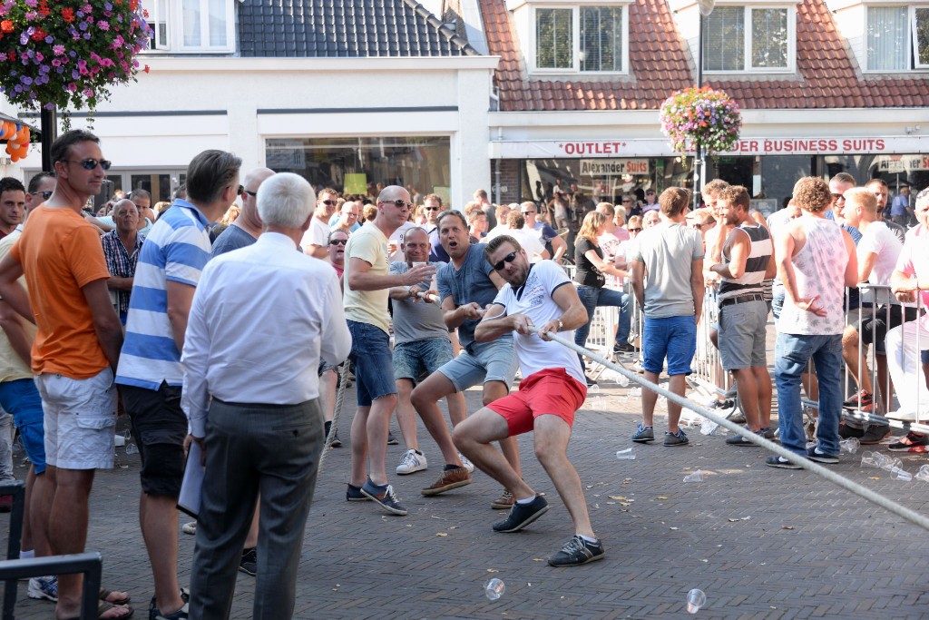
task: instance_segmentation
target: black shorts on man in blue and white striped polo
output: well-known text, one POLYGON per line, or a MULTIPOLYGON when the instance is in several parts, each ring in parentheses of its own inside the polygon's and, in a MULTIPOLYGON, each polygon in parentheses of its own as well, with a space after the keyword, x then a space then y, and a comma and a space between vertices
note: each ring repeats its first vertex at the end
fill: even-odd
POLYGON ((180 392, 180 386, 169 386, 164 381, 157 390, 120 386, 142 459, 142 491, 149 495, 180 495, 188 430, 187 416, 180 408, 180 392))

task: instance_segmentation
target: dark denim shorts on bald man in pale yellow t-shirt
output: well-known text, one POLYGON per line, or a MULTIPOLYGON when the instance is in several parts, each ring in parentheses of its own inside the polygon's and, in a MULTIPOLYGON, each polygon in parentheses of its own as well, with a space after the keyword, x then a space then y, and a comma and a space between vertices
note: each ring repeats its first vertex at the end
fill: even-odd
POLYGON ((390 350, 390 337, 371 323, 348 321, 351 352, 348 359, 355 365, 358 406, 370 407, 373 401, 397 393, 390 350))

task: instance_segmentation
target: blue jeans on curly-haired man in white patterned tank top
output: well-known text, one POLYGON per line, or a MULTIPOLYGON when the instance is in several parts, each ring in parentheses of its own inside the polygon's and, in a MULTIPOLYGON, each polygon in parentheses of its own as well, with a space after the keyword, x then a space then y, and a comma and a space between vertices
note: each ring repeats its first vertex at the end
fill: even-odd
POLYGON ((778 384, 780 444, 797 455, 806 455, 800 382, 806 363, 813 359, 819 379, 819 452, 839 454, 839 420, 842 416, 842 335, 805 336, 778 334, 774 376, 778 384))

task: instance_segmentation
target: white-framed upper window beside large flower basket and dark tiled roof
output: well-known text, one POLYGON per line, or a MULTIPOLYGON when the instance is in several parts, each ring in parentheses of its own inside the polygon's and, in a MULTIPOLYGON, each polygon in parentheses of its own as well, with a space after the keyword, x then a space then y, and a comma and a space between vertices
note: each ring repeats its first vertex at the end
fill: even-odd
POLYGON ((233 51, 234 4, 230 0, 148 0, 151 50, 233 51))

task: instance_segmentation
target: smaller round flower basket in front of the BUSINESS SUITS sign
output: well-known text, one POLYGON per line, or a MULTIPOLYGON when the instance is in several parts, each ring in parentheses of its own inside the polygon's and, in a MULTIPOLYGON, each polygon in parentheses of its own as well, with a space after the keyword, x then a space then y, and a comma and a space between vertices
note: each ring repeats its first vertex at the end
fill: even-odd
POLYGON ((661 131, 675 152, 729 151, 739 140, 739 104, 722 90, 692 86, 678 90, 661 104, 661 131))

